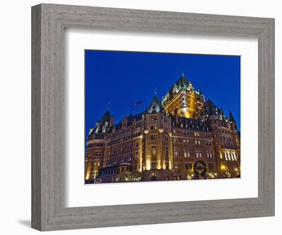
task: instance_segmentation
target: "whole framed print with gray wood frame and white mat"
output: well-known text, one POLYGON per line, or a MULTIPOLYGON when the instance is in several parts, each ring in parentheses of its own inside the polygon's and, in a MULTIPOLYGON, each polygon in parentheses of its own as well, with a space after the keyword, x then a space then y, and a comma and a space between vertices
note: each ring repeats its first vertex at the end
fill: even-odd
POLYGON ((32 7, 33 228, 273 216, 273 166, 274 19, 32 7))

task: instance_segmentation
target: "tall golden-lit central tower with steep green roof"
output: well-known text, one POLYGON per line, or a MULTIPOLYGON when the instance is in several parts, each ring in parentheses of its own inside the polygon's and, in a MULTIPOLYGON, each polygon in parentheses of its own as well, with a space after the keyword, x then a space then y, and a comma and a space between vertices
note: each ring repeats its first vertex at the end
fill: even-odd
POLYGON ((178 116, 197 119, 205 101, 200 88, 196 91, 192 83, 182 74, 163 96, 162 105, 166 112, 176 114, 177 111, 178 116))

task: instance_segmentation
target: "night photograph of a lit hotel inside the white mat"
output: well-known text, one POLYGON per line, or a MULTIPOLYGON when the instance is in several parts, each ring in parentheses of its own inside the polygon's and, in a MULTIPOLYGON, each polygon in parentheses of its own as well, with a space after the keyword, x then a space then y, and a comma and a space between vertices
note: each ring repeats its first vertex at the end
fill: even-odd
POLYGON ((240 56, 86 50, 85 63, 86 184, 240 178, 240 56))

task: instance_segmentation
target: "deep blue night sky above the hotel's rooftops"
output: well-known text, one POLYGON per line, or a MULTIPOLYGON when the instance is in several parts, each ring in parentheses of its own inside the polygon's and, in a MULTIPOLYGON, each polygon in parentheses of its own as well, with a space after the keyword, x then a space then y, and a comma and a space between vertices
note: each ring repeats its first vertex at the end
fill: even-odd
POLYGON ((86 135, 106 112, 108 102, 116 124, 135 101, 143 101, 138 112, 145 110, 155 88, 161 100, 182 73, 228 118, 230 108, 240 130, 240 56, 86 50, 86 135))

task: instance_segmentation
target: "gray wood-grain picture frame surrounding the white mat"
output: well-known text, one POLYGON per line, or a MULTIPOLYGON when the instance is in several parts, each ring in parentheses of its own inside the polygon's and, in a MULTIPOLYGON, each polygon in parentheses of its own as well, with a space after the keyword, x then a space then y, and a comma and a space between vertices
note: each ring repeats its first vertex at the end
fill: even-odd
POLYGON ((273 18, 41 4, 32 7, 31 19, 32 228, 46 231, 274 216, 273 18), (69 27, 258 38, 258 197, 67 208, 64 29, 69 27))

